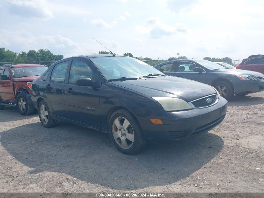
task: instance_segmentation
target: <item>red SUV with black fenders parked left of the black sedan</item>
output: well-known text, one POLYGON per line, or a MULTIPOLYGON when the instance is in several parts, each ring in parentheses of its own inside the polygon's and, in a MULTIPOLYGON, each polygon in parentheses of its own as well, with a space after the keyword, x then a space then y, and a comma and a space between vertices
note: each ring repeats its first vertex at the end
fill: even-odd
POLYGON ((32 81, 39 78, 46 65, 3 65, 0 66, 0 110, 5 106, 17 106, 22 115, 32 114, 32 81))

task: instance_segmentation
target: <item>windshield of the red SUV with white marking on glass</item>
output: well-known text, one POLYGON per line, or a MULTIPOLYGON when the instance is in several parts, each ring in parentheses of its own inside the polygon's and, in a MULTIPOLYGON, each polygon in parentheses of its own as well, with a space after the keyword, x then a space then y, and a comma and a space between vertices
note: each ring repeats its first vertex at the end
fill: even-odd
POLYGON ((26 76, 40 76, 46 71, 47 67, 14 67, 12 74, 14 78, 26 76))

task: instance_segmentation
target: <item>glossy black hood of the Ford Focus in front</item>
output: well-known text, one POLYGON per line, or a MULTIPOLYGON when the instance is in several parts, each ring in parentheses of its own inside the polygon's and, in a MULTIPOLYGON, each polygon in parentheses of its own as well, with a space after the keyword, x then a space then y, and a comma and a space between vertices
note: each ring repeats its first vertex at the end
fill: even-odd
POLYGON ((132 89, 149 97, 175 97, 184 99, 187 102, 210 94, 216 94, 212 86, 174 76, 113 81, 111 83, 132 89))

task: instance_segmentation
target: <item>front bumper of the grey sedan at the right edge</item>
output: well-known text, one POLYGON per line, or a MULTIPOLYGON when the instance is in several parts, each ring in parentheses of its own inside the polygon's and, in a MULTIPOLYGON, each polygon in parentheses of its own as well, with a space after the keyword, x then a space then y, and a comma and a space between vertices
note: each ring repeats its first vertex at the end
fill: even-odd
MULTIPOLYGON (((264 80, 258 80, 260 84, 264 86, 264 80)), ((262 87, 260 84, 258 84, 256 81, 252 80, 245 80, 245 81, 238 81, 236 83, 233 83, 234 86, 234 93, 257 93, 260 91, 264 91, 264 87, 262 87)))

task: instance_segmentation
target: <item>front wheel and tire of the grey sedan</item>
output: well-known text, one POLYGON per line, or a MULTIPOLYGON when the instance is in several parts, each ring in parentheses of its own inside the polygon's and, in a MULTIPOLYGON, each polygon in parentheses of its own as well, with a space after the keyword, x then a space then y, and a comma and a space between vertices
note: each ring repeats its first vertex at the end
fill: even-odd
POLYGON ((231 100, 234 96, 232 85, 226 81, 218 81, 213 85, 213 87, 216 88, 219 94, 227 100, 231 100))

